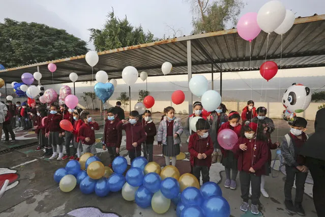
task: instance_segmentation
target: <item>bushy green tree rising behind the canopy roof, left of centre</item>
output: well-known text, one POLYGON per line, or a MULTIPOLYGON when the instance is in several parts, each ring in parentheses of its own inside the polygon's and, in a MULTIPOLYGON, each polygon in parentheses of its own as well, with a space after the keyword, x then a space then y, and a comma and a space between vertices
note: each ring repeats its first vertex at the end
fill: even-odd
POLYGON ((142 26, 132 26, 125 16, 119 19, 114 10, 107 15, 103 29, 89 29, 90 41, 93 41, 97 51, 127 47, 136 44, 153 42, 154 35, 148 31, 144 33, 142 26))

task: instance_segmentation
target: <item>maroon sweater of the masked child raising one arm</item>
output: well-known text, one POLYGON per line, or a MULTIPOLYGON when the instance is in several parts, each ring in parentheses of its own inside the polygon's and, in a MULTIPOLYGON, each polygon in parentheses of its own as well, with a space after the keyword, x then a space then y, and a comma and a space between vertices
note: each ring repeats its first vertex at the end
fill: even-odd
POLYGON ((116 127, 119 130, 125 130, 127 137, 126 149, 128 151, 135 151, 135 148, 132 146, 132 143, 135 142, 138 144, 136 150, 141 150, 141 144, 146 140, 146 135, 144 129, 142 128, 142 125, 139 122, 133 125, 130 123, 123 124, 122 121, 120 121, 116 127))

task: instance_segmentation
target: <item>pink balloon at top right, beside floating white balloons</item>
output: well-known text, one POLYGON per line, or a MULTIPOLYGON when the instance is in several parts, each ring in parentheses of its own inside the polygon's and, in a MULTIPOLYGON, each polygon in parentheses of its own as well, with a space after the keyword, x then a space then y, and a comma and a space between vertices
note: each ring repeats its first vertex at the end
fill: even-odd
POLYGON ((237 23, 237 32, 240 37, 251 42, 258 36, 261 29, 257 24, 257 13, 244 14, 237 23))

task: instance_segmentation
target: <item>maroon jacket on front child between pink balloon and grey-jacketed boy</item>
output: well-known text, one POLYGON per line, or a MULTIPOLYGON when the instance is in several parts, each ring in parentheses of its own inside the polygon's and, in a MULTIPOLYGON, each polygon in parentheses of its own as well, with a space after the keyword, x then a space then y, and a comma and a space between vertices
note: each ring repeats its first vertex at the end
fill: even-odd
POLYGON ((268 161, 269 148, 266 141, 256 141, 254 139, 249 140, 246 137, 240 137, 238 143, 234 146, 233 152, 239 155, 238 158, 238 170, 249 173, 249 168, 245 168, 244 165, 249 165, 255 170, 256 175, 260 176, 264 174, 264 165, 268 161), (239 148, 240 144, 245 144, 247 150, 243 151, 239 148), (256 147, 254 148, 254 146, 256 147), (254 149, 255 150, 254 150, 254 149), (253 162, 253 163, 252 163, 253 162))

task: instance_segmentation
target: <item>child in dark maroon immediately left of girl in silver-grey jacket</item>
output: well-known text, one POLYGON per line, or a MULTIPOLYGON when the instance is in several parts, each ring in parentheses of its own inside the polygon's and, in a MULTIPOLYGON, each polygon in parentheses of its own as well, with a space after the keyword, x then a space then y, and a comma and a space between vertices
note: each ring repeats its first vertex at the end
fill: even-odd
POLYGON ((142 115, 142 127, 146 134, 146 141, 142 144, 143 154, 149 162, 152 162, 157 129, 155 123, 151 119, 151 112, 149 110, 145 110, 142 115))

